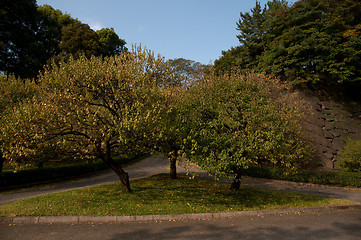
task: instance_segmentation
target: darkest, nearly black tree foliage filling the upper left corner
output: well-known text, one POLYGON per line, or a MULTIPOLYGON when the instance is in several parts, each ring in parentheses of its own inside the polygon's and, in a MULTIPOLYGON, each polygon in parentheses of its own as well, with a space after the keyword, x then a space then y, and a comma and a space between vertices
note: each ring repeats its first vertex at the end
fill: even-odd
POLYGON ((21 78, 37 76, 59 54, 61 29, 78 22, 49 5, 37 7, 31 0, 4 1, 0 18, 0 71, 21 78))

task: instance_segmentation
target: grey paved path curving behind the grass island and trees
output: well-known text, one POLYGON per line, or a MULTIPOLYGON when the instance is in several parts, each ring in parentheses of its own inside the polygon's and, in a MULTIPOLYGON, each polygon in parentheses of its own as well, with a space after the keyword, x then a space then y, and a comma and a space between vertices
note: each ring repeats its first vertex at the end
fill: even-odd
MULTIPOLYGON (((142 161, 136 162, 126 167, 125 170, 129 173, 131 179, 135 179, 152 176, 158 173, 168 173, 168 168, 169 161, 161 155, 155 155, 148 157, 142 161)), ((200 169, 195 167, 188 167, 188 170, 191 172, 200 171, 200 169)), ((178 173, 184 174, 187 170, 182 166, 178 166, 177 171, 178 173)), ((0 194, 0 205, 48 193, 63 192, 71 189, 97 186, 115 182, 118 180, 119 179, 116 174, 109 170, 92 175, 90 177, 72 180, 69 182, 55 184, 47 187, 33 188, 12 193, 3 193, 0 194)), ((339 188, 315 184, 302 184, 255 178, 246 178, 242 184, 259 188, 307 193, 328 198, 348 199, 361 203, 361 189, 359 188, 339 188)))

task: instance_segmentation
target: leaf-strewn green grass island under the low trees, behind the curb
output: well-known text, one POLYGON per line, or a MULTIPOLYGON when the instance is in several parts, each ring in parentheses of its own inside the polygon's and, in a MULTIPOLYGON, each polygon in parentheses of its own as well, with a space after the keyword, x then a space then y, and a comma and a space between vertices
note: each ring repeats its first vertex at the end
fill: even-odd
POLYGON ((132 193, 118 183, 49 194, 0 206, 0 216, 114 216, 232 212, 352 204, 297 193, 242 187, 161 174, 131 181, 132 193))

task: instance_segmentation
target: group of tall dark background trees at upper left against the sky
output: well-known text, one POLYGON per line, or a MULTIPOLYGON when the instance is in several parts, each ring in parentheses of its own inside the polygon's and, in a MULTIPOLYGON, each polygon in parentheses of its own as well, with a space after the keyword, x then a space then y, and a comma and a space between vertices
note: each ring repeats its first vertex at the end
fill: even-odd
POLYGON ((90 27, 35 0, 4 0, 0 11, 0 71, 36 77, 52 60, 79 56, 111 56, 126 50, 114 29, 90 27))

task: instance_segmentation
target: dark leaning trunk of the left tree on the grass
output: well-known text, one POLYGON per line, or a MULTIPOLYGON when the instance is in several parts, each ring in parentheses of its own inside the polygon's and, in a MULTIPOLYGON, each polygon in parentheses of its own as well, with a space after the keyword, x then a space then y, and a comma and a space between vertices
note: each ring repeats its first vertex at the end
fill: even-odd
POLYGON ((105 153, 101 151, 100 145, 97 146, 99 157, 118 175, 120 185, 123 192, 132 192, 129 182, 129 174, 123 170, 123 168, 114 161, 110 156, 110 144, 106 143, 105 153))

